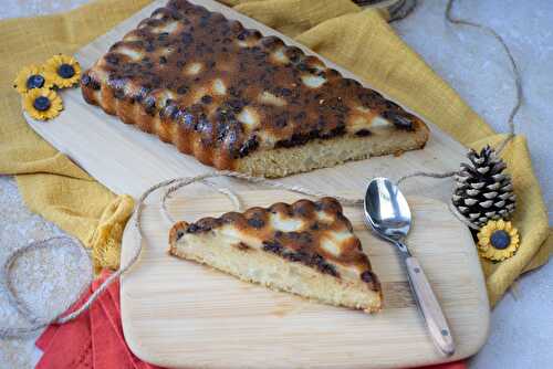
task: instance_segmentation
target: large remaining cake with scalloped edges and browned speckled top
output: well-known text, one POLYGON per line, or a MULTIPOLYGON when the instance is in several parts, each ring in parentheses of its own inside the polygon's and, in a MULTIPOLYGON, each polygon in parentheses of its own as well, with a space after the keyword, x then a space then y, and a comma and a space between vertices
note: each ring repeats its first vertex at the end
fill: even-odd
POLYGON ((276 36, 171 0, 82 77, 90 104, 218 169, 265 177, 421 148, 428 128, 276 36))

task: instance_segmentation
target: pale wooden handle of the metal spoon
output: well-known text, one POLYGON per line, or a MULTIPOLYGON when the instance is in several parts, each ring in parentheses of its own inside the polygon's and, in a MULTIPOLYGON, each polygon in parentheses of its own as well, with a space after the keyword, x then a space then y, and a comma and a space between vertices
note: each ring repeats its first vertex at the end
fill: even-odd
POLYGON ((430 337, 445 356, 453 355, 455 342, 451 329, 449 329, 444 312, 425 272, 422 272, 422 267, 414 256, 407 257, 405 264, 415 298, 426 320, 430 337))

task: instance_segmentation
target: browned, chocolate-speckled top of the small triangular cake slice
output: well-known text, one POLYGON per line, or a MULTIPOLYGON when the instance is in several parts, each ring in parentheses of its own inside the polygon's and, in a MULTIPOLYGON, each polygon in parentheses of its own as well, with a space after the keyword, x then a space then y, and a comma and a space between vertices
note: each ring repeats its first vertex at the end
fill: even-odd
POLYGON ((316 202, 299 200, 292 204, 278 202, 269 208, 250 208, 243 213, 228 212, 194 223, 178 222, 169 232, 169 253, 176 254, 176 243, 185 234, 201 235, 223 226, 231 226, 241 234, 241 241, 237 241, 234 246, 243 252, 252 249, 247 240, 262 240, 263 252, 336 278, 341 278, 342 271, 345 271, 349 276, 356 275, 369 289, 380 292, 380 283, 372 271, 361 241, 353 234, 349 220, 334 198, 316 202), (295 229, 289 232, 279 230, 280 221, 292 221, 295 229), (345 238, 336 240, 336 235, 341 234, 345 238), (323 245, 325 240, 332 242, 332 249, 323 245))

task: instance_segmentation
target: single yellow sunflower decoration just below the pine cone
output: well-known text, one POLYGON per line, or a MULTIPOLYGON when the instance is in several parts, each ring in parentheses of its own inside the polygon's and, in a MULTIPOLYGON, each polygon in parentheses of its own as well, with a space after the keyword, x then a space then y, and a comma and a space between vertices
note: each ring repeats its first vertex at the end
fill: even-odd
POLYGON ((511 222, 490 220, 478 232, 478 251, 482 257, 503 261, 517 252, 519 241, 519 231, 511 222))

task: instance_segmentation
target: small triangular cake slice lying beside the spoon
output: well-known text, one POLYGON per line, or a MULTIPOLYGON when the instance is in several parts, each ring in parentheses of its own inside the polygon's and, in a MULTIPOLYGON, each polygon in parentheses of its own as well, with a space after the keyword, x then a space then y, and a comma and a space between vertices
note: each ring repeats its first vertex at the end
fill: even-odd
POLYGON ((333 198, 229 212, 169 234, 171 255, 321 303, 377 312, 382 289, 333 198))

